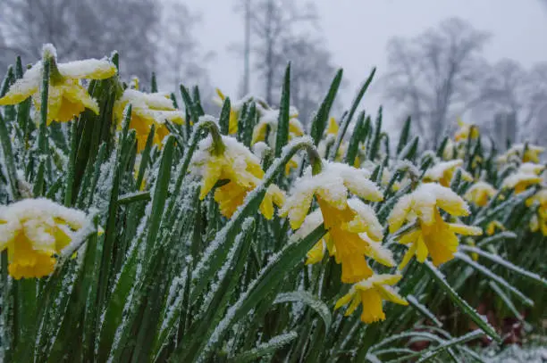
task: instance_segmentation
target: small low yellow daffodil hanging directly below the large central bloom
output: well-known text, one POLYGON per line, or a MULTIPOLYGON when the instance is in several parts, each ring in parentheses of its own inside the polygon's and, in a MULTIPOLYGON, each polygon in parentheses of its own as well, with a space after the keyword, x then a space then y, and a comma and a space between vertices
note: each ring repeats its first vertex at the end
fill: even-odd
POLYGON ((351 286, 349 293, 346 293, 340 300, 336 301, 334 309, 340 309, 341 306, 349 303, 346 309, 346 316, 351 315, 357 309, 359 303, 362 304, 361 321, 370 324, 379 320, 385 320, 382 301, 391 301, 400 305, 408 305, 408 301, 400 296, 397 291, 391 287, 397 284, 402 276, 400 275, 374 275, 351 286))

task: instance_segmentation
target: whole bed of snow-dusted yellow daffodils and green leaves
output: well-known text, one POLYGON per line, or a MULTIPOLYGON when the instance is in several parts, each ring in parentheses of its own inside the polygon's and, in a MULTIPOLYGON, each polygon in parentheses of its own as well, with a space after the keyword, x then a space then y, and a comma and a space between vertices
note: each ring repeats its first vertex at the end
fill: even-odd
POLYGON ((46 55, 0 87, 0 361, 547 359, 511 345, 545 333, 542 147, 390 140, 374 73, 297 120, 288 83, 204 111, 46 55))

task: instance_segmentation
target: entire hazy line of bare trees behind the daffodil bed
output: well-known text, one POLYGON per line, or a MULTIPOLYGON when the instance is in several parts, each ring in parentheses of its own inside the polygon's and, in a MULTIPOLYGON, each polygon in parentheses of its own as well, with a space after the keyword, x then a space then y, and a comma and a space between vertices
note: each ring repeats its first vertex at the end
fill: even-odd
MULTIPOLYGON (((236 48, 243 60, 240 95, 279 101, 282 74, 291 62, 291 103, 304 123, 324 97, 336 66, 316 6, 306 0, 235 0, 244 24, 236 48), (255 87, 252 87, 255 86, 255 87)), ((61 61, 102 57, 114 49, 122 76, 148 85, 158 70, 160 87, 198 84, 202 101, 212 98, 204 53, 195 37, 200 21, 182 0, 3 0, 0 70, 40 57, 54 43, 61 61)), ((410 115, 420 136, 438 144, 454 120, 465 116, 500 144, 506 139, 547 143, 547 62, 526 69, 505 59, 487 62, 488 33, 467 21, 448 19, 417 37, 395 37, 387 46, 383 100, 410 115)), ((343 86, 343 84, 342 84, 343 86)), ((232 95, 233 96, 233 95, 232 95)))

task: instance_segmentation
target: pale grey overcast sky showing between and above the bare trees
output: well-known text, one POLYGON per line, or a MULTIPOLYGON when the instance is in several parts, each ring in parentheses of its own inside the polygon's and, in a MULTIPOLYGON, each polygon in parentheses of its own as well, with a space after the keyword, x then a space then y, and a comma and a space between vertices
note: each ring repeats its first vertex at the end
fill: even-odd
MULTIPOLYGON (((295 0, 298 1, 298 0, 295 0)), ((321 27, 333 60, 349 81, 342 99, 349 103, 355 88, 373 66, 385 70, 385 45, 394 36, 414 37, 443 19, 457 16, 476 29, 492 33, 484 55, 495 62, 508 57, 529 67, 547 62, 547 6, 543 0, 315 0, 321 27)), ((237 95, 242 60, 228 51, 243 38, 234 0, 187 0, 202 23, 197 35, 204 50, 214 50, 210 64, 216 87, 237 95)), ((252 89, 260 94, 259 89, 252 89)), ((325 90, 326 91, 326 90, 325 90)), ((369 97, 367 106, 378 99, 369 97)), ((372 111, 372 110, 369 110, 372 111)))

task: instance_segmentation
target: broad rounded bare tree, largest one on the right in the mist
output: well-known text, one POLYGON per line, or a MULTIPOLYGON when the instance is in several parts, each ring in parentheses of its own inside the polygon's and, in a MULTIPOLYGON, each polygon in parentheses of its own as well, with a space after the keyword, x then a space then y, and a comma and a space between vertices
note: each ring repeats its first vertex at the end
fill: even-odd
POLYGON ((414 39, 389 43, 384 95, 412 116, 429 142, 437 144, 449 120, 480 102, 476 81, 486 66, 481 51, 488 38, 466 21, 449 19, 414 39))

